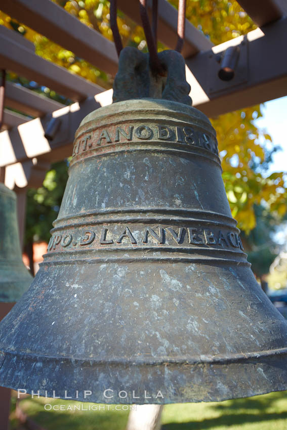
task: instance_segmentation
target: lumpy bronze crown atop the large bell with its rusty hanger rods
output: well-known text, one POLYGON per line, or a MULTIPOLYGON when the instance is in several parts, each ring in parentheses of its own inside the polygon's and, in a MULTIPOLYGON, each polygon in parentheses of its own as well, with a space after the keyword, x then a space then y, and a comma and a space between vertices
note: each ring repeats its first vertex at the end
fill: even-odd
POLYGON ((140 14, 148 53, 134 47, 123 49, 116 22, 116 0, 111 1, 110 21, 119 55, 118 71, 113 84, 113 103, 153 98, 192 105, 190 85, 186 81, 185 61, 180 51, 184 40, 185 0, 179 0, 178 40, 176 50, 157 52, 158 0, 152 2, 151 25, 146 0, 140 0, 140 14))

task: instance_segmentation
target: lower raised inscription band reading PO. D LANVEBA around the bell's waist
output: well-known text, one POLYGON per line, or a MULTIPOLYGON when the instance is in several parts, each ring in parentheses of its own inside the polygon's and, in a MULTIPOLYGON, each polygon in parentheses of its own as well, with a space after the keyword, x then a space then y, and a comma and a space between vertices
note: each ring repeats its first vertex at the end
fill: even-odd
POLYGON ((225 249, 241 249, 242 242, 237 233, 226 229, 210 229, 198 227, 167 227, 167 226, 104 226, 85 230, 79 237, 72 233, 52 235, 48 251, 56 248, 101 248, 102 246, 173 246, 173 247, 215 247, 225 249))

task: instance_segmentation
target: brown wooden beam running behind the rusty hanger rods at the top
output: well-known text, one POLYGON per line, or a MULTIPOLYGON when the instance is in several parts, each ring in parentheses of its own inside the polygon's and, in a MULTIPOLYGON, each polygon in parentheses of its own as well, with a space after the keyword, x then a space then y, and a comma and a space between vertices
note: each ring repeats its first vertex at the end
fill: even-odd
MULTIPOLYGON (((152 0, 148 0, 149 14, 151 14, 152 0)), ((118 0, 118 9, 142 25, 139 2, 131 0, 118 0)), ((158 39, 170 49, 175 49, 177 43, 177 10, 167 0, 158 1, 158 39)), ((184 58, 191 57, 199 51, 206 51, 213 46, 210 39, 197 30, 187 19, 185 20, 185 41, 182 50, 184 58)))

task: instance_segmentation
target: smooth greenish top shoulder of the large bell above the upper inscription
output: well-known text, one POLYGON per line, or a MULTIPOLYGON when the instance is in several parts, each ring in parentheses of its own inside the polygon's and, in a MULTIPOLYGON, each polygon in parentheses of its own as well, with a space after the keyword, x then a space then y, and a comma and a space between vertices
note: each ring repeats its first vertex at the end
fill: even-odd
POLYGON ((209 118, 203 112, 201 112, 200 110, 196 109, 193 106, 188 106, 184 103, 179 103, 172 100, 154 99, 154 98, 137 98, 137 99, 129 99, 129 100, 112 103, 110 105, 102 106, 90 112, 87 116, 85 116, 84 119, 81 120, 78 126, 78 129, 75 133, 75 138, 78 136, 78 134, 80 134, 80 130, 85 124, 95 119, 99 119, 99 117, 110 115, 112 113, 117 113, 117 111, 127 113, 129 112, 129 110, 141 111, 143 109, 147 111, 150 110, 151 112, 152 111, 165 112, 170 110, 177 110, 177 112, 179 113, 182 112, 185 114, 189 114, 191 115, 192 118, 197 118, 203 121, 205 124, 208 124, 212 128, 212 130, 214 131, 214 135, 216 136, 216 131, 214 130, 209 118), (138 105, 138 109, 135 109, 135 105, 138 105), (123 106, 123 108, 120 110, 121 106, 123 106), (164 107, 166 107, 166 109, 164 109, 164 107))

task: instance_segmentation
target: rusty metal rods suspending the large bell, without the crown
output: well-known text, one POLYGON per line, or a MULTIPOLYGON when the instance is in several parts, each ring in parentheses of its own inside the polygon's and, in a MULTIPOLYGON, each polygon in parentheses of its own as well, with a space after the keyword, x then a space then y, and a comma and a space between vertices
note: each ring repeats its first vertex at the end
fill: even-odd
MULTIPOLYGON (((158 11, 158 0, 153 0, 152 2, 152 27, 150 26, 147 8, 146 8, 146 0, 139 0, 140 2, 140 15, 142 20, 142 26, 144 29, 147 47, 149 51, 149 63, 151 71, 154 74, 158 74, 161 76, 166 75, 166 70, 163 68, 162 64, 159 61, 157 54, 157 11, 158 11)), ((175 50, 177 52, 181 52, 184 41, 184 32, 185 32, 185 9, 186 9, 186 0, 179 0, 179 9, 178 9, 178 40, 175 50)), ((117 27, 116 22, 116 11, 117 11, 117 0, 111 0, 110 2, 110 25, 113 33, 115 48, 117 51, 117 55, 119 56, 122 50, 122 42, 120 38, 120 34, 117 27)))

